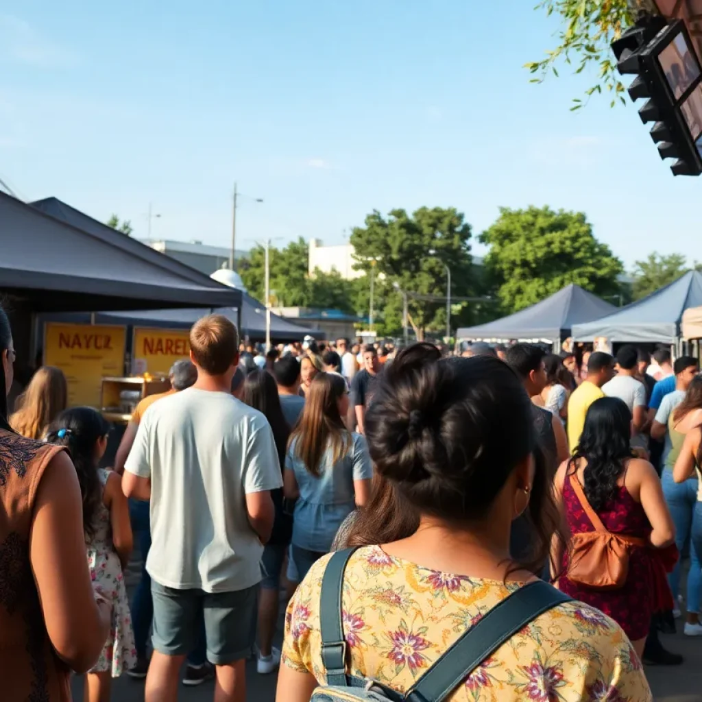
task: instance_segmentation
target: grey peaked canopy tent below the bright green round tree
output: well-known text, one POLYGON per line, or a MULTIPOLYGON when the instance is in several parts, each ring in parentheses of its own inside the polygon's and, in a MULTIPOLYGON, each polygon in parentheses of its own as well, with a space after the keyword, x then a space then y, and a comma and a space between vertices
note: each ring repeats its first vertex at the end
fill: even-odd
POLYGON ((616 310, 579 285, 571 284, 557 293, 488 324, 458 329, 459 339, 548 339, 557 342, 571 336, 571 328, 616 310))

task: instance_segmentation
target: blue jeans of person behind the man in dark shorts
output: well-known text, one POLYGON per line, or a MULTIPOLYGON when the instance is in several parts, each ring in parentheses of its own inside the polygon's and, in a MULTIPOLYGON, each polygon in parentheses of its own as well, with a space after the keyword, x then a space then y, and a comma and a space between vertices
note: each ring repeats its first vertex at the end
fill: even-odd
MULTIPOLYGON (((134 541, 139 547, 141 554, 141 580, 134 592, 132 600, 131 615, 134 629, 134 646, 139 658, 146 658, 146 642, 149 638, 151 623, 154 619, 154 600, 151 595, 151 576, 146 571, 146 557, 151 548, 151 519, 149 514, 150 505, 141 500, 129 501, 129 517, 134 534, 134 541)), ((197 645, 187 657, 190 665, 203 665, 206 658, 204 618, 200 621, 200 633, 197 637, 197 645)))

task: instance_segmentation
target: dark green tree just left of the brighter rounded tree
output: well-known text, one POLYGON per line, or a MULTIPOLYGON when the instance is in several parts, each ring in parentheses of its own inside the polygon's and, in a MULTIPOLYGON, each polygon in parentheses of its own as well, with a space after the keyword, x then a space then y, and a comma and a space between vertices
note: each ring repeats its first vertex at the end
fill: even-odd
POLYGON ((439 311, 444 307, 440 297, 446 295, 444 263, 451 269, 452 296, 473 293, 470 237, 470 225, 456 208, 422 207, 411 216, 403 209, 392 210, 387 217, 373 211, 366 217, 364 227, 355 227, 350 242, 357 252, 357 270, 367 277, 375 261, 377 280, 383 280, 387 286, 384 307, 378 307, 381 314, 389 322, 395 319, 397 307, 402 310, 401 294, 390 293, 390 286, 398 284, 409 293, 409 321, 421 339, 425 331, 438 331, 442 320, 445 323, 445 313, 439 311))

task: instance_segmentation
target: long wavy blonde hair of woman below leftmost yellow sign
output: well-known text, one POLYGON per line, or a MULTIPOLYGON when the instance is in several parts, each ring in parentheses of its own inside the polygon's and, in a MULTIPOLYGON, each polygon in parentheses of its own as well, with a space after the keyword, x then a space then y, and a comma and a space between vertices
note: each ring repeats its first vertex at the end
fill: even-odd
POLYGON ((17 398, 10 425, 27 439, 42 439, 46 428, 68 404, 66 376, 53 366, 41 366, 17 398))

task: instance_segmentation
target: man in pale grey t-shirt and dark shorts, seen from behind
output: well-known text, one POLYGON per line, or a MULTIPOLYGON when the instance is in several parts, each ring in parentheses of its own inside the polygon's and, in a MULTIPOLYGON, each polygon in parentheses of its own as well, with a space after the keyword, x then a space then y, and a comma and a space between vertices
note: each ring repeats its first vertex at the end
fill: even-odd
POLYGON ((262 544, 274 519, 270 491, 282 486, 282 473, 265 416, 231 394, 237 337, 221 315, 193 326, 197 382, 145 413, 124 467, 124 493, 151 500, 154 654, 146 702, 176 699, 202 614, 207 656, 226 691, 218 699, 246 699, 262 544))

